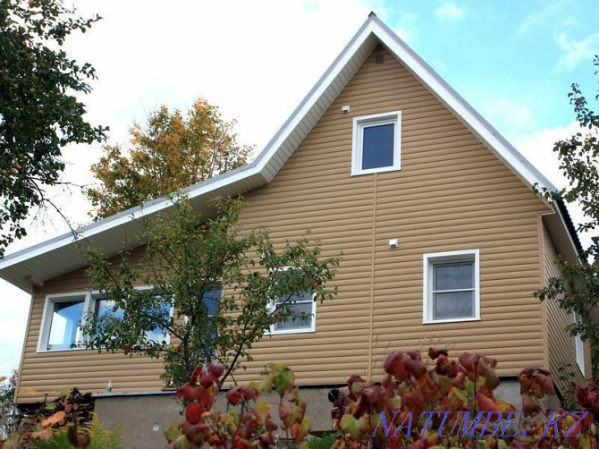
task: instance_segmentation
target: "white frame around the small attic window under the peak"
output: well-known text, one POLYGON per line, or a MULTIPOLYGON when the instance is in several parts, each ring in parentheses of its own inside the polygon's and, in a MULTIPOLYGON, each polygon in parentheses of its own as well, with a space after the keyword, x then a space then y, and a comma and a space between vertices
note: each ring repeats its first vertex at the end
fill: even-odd
POLYGON ((401 170, 401 111, 383 114, 363 115, 353 119, 353 139, 351 140, 351 175, 393 172, 401 170), (395 124, 393 136, 393 164, 384 167, 362 169, 364 129, 370 126, 395 124))

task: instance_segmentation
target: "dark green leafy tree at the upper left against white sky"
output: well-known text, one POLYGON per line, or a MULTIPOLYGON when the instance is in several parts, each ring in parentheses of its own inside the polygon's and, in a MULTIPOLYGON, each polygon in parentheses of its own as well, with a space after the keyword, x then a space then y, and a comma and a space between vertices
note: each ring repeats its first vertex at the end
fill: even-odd
POLYGON ((100 17, 73 13, 60 0, 0 0, 0 257, 26 234, 30 208, 54 206, 45 189, 61 183, 61 149, 105 138, 76 97, 89 93, 96 72, 62 49, 100 17))

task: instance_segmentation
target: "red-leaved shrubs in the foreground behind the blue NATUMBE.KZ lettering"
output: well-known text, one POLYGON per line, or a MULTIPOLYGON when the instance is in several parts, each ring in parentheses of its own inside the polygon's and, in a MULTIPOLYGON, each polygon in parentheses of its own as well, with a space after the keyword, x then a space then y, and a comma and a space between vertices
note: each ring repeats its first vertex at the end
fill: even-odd
MULTIPOLYGON (((350 404, 336 416, 339 434, 328 447, 597 446, 593 412, 599 411, 599 388, 594 382, 578 388, 578 407, 583 412, 543 412, 544 397, 555 393, 551 376, 544 369, 527 367, 519 373, 522 406, 517 411, 494 395, 500 383, 496 360, 468 352, 451 360, 446 351, 432 348, 428 356, 434 361, 427 369, 418 350, 392 352, 384 362, 380 383, 351 376, 350 404)), ((227 411, 218 411, 215 395, 223 372, 222 366, 209 365, 206 371, 198 367, 177 390, 188 406, 182 422, 166 432, 171 447, 280 447, 278 429, 288 445, 310 446, 306 403, 299 399, 289 369, 267 365, 263 380, 229 390, 227 411), (280 398, 281 428, 270 413, 273 405, 260 398, 273 388, 280 398)))

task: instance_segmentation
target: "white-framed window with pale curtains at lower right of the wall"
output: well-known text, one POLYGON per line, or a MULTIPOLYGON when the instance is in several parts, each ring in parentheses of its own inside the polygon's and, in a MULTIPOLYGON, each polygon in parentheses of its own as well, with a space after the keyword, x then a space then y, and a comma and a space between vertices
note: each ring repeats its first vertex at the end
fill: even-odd
POLYGON ((423 323, 480 319, 478 250, 424 255, 423 323))

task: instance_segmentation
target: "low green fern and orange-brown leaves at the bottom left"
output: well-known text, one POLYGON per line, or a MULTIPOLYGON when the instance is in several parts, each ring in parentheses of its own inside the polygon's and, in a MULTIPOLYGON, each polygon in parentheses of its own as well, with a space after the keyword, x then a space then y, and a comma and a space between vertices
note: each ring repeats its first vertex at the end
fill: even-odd
POLYGON ((50 439, 37 444, 38 449, 119 449, 122 446, 122 427, 106 430, 96 413, 92 414, 91 421, 84 427, 73 423, 57 428, 50 439))

